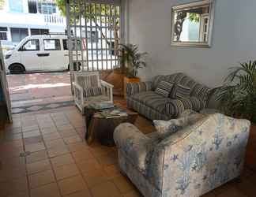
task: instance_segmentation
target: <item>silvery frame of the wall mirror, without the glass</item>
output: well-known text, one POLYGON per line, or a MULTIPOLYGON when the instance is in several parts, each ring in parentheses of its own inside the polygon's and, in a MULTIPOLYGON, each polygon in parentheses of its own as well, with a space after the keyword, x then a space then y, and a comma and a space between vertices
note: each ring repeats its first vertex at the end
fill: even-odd
POLYGON ((198 2, 188 2, 179 6, 173 6, 171 8, 171 46, 190 46, 190 47, 201 47, 201 48, 210 48, 212 45, 213 37, 213 22, 214 22, 214 8, 215 0, 202 0, 198 2), (174 26, 175 26, 175 11, 190 9, 198 6, 209 5, 209 34, 208 42, 177 42, 174 41, 174 26))

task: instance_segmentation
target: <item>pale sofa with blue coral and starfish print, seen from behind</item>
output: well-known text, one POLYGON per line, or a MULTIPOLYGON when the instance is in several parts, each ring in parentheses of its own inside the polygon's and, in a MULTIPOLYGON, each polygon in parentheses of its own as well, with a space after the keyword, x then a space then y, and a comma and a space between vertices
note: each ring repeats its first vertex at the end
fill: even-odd
POLYGON ((164 137, 115 129, 119 167, 145 197, 200 196, 241 174, 250 121, 213 113, 186 122, 164 137))

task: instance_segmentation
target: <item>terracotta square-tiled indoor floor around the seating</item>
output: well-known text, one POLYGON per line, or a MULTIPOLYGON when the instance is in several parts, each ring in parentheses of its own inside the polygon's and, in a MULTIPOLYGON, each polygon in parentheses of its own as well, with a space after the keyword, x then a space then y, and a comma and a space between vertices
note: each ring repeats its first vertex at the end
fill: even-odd
MULTIPOLYGON (((143 117, 135 125, 146 133, 153 130, 143 117)), ((14 115, 13 125, 0 131, 0 196, 141 196, 119 173, 116 148, 97 142, 89 147, 84 130, 84 117, 75 107, 14 115)), ((245 169, 241 182, 205 196, 254 197, 255 185, 255 173, 245 169)))

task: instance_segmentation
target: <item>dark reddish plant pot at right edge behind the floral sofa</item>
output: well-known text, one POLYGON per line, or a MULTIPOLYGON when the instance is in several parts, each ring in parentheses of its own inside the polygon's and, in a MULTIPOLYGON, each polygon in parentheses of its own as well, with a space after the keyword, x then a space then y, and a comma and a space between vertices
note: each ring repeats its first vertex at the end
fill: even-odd
POLYGON ((247 144, 247 154, 245 165, 256 172, 256 125, 250 126, 250 137, 247 144))

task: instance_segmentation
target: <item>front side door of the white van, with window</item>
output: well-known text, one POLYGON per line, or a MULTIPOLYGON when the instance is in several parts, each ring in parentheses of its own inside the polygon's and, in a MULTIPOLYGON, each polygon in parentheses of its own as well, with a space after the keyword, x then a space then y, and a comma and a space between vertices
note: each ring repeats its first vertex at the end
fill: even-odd
POLYGON ((21 64, 24 65, 26 71, 36 71, 42 69, 42 56, 40 51, 40 40, 29 39, 17 51, 20 56, 21 64))

